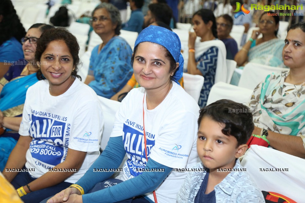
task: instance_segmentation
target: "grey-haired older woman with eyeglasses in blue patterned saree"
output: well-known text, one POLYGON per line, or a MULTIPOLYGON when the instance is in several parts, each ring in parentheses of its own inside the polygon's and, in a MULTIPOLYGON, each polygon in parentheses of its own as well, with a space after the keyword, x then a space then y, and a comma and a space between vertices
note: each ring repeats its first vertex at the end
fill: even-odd
POLYGON ((120 11, 114 5, 98 5, 90 22, 103 43, 92 50, 85 84, 97 95, 110 99, 131 78, 132 50, 126 40, 119 37, 122 21, 120 11))

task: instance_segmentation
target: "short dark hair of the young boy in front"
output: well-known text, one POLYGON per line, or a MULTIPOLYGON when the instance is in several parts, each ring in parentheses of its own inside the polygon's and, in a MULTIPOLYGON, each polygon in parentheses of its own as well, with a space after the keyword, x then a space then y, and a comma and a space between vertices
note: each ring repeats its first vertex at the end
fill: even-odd
POLYGON ((221 132, 237 139, 238 146, 246 144, 252 135, 253 116, 248 107, 232 100, 218 100, 199 111, 198 126, 204 116, 224 124, 221 132))

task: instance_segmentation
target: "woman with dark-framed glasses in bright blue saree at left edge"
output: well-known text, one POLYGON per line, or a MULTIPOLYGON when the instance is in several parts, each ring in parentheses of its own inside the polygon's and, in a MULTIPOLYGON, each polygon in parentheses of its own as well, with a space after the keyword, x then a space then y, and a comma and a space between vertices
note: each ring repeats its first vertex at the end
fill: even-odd
POLYGON ((21 39, 24 59, 12 64, 0 80, 0 125, 5 129, 0 135, 1 171, 19 138, 18 130, 27 89, 38 81, 38 67, 34 63, 37 40, 43 31, 50 28, 53 26, 42 23, 30 27, 26 36, 21 39))

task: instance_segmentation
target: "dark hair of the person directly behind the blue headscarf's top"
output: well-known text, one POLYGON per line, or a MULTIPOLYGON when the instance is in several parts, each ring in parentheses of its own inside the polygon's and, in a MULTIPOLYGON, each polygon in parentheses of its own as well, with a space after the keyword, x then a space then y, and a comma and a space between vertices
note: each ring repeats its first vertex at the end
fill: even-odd
POLYGON ((162 21, 163 23, 170 25, 173 11, 169 5, 162 3, 149 4, 148 9, 156 21, 162 21))

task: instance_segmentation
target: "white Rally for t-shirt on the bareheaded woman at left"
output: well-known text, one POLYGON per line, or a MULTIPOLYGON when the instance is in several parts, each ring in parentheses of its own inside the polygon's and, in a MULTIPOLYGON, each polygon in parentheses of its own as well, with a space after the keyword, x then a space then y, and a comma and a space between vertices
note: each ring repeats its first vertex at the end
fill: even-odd
POLYGON ((38 81, 27 90, 19 128, 20 135, 33 138, 25 164, 35 168, 30 175, 41 177, 62 163, 68 148, 88 152, 81 168, 65 180, 75 183, 99 156, 102 128, 102 108, 89 86, 75 79, 65 93, 52 96, 48 81, 38 81))

